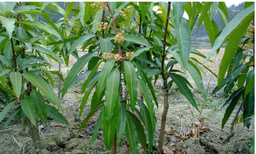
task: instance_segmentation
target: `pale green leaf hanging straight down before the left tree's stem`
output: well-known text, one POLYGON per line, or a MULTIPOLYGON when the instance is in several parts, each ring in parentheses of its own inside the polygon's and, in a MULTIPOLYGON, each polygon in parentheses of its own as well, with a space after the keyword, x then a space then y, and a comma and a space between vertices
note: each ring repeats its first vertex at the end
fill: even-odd
POLYGON ((22 81, 22 77, 20 72, 11 72, 10 73, 10 80, 12 83, 12 89, 14 90, 16 97, 19 98, 20 97, 20 92, 21 92, 21 81, 22 81))

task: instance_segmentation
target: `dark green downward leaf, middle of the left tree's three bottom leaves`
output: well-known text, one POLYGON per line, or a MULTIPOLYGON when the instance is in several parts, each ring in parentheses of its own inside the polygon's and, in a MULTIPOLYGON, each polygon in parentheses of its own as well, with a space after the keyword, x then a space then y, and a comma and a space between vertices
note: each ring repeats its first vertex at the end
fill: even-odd
POLYGON ((40 92, 33 90, 31 92, 31 98, 34 101, 34 107, 36 109, 36 114, 43 121, 44 124, 47 123, 47 114, 46 114, 46 105, 44 101, 44 97, 40 94, 40 92))

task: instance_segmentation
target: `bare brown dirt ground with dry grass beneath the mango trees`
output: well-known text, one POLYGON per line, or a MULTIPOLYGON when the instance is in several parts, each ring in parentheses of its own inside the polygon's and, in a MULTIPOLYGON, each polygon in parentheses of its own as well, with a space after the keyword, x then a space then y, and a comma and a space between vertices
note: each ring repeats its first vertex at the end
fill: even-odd
MULTIPOLYGON (((210 49, 198 49, 204 54, 207 54, 210 49)), ((220 60, 222 58, 224 49, 220 50, 218 55, 213 55, 212 60, 215 64, 207 63, 207 66, 213 70, 216 74, 218 73, 218 67, 220 60)), ((80 52, 80 55, 83 53, 80 52)), ((196 57, 196 56, 194 56, 196 57)), ((201 62, 202 58, 196 57, 201 62)), ((68 68, 62 69, 62 72, 65 76, 67 70, 71 68, 74 64, 75 59, 70 58, 70 66, 68 68)), ((177 66, 176 66, 177 67, 177 66)), ((52 69, 57 69, 57 65, 53 65, 52 69)), ((178 67, 176 68, 178 69, 178 67)), ((205 70, 204 70, 205 71, 205 70)), ((178 134, 187 134, 191 131, 191 124, 193 121, 198 121, 199 112, 191 107, 189 102, 186 100, 183 95, 180 94, 179 90, 173 86, 169 96, 169 111, 167 115, 166 123, 166 138, 164 144, 170 149, 179 149, 177 154, 228 154, 233 146, 234 151, 239 151, 240 154, 248 154, 251 146, 251 137, 254 134, 254 122, 247 129, 243 127, 242 124, 239 125, 237 133, 234 137, 230 139, 230 142, 224 144, 223 141, 229 135, 229 126, 235 115, 235 112, 230 117, 229 121, 225 125, 224 129, 221 129, 221 121, 224 116, 225 109, 220 110, 222 104, 226 99, 220 98, 220 92, 211 95, 213 88, 217 85, 217 78, 213 75, 210 75, 209 72, 205 71, 203 76, 203 82, 205 89, 208 89, 208 98, 203 108, 201 117, 203 118, 205 125, 210 131, 201 132, 198 145, 198 137, 191 137, 185 141, 176 140, 171 136, 171 128, 178 134), (209 85, 209 86, 208 86, 209 85), (190 108, 190 109, 189 109, 190 108), (170 141, 171 139, 171 141, 170 141), (234 141, 234 142, 233 142, 234 141), (173 145, 172 145, 173 144, 173 145)), ((191 81, 193 87, 195 87, 193 79, 189 75, 186 75, 186 78, 191 81)), ((160 121, 161 114, 163 111, 163 95, 161 90, 161 80, 156 83, 155 91, 159 101, 159 108, 155 107, 155 115, 157 118, 157 125, 155 131, 154 140, 158 143, 158 134, 160 131, 160 121)), ((57 93, 58 89, 54 87, 55 92, 57 93)), ((70 87, 67 94, 63 98, 61 104, 63 110, 60 112, 67 118, 70 125, 64 126, 59 124, 56 121, 48 119, 48 125, 43 126, 40 129, 41 133, 41 142, 42 142, 42 154, 105 154, 109 151, 104 147, 104 142, 102 138, 102 130, 99 131, 99 137, 96 139, 96 142, 90 146, 90 140, 92 137, 92 131, 94 129, 94 123, 96 122, 97 116, 99 113, 94 114, 94 116, 86 124, 82 132, 79 134, 79 137, 76 137, 77 129, 80 125, 78 119, 80 101, 82 100, 83 95, 73 92, 73 90, 79 90, 81 84, 75 84, 73 87, 70 87)), ((201 108, 205 100, 202 99, 197 89, 192 91, 198 101, 198 106, 201 108)), ((87 102, 82 118, 89 113, 90 111, 90 102, 87 102)), ((236 109, 235 109, 236 111, 236 109)), ((254 121, 254 119, 253 119, 254 121)), ((41 124, 39 124, 40 126, 41 124)), ((237 125, 236 125, 237 126, 237 125)), ((237 128, 235 126, 235 128, 237 128)), ((21 136, 20 135, 20 121, 13 120, 11 124, 2 130, 3 124, 0 124, 0 154, 33 154, 34 148, 32 146, 32 141, 30 136, 21 136)), ((40 126, 41 127, 41 126, 40 126)), ((125 139, 118 147, 118 154, 129 154, 130 152, 125 147, 125 139)), ((143 154, 142 148, 140 148, 140 154, 143 154)), ((156 153, 154 151, 153 153, 156 153)), ((234 153, 234 152, 233 152, 234 153)))

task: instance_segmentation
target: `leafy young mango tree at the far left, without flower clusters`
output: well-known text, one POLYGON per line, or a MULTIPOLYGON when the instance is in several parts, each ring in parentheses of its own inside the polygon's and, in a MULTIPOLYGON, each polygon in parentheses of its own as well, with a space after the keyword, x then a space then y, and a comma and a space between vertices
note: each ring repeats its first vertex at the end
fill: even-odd
POLYGON ((49 25, 33 20, 33 14, 45 13, 35 5, 19 5, 16 2, 0 3, 1 9, 1 84, 0 92, 5 105, 0 114, 0 122, 8 112, 16 107, 15 112, 5 122, 5 127, 14 118, 24 119, 36 152, 41 147, 37 117, 47 124, 47 117, 68 124, 63 115, 54 107, 62 109, 55 93, 49 86, 52 80, 47 71, 48 59, 63 62, 51 50, 44 46, 45 38, 59 37, 49 25), (16 20, 18 19, 18 20, 16 20), (44 30, 42 35, 39 30, 44 30), (4 45, 5 44, 5 45, 4 45), (37 52, 38 56, 34 53, 37 52), (23 86, 27 83, 27 86, 23 86), (46 105, 45 99, 52 105, 46 105))

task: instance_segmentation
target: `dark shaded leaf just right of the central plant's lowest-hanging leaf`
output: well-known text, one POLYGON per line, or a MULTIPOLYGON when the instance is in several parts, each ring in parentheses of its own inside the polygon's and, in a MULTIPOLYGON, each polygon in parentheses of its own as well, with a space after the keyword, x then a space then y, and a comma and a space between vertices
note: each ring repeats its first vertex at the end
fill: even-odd
POLYGON ((140 123, 139 119, 134 114, 132 114, 129 111, 126 111, 126 112, 128 112, 130 114, 130 116, 132 117, 132 119, 133 119, 133 122, 134 122, 135 128, 136 128, 136 132, 137 132, 137 135, 138 135, 138 139, 140 141, 140 144, 142 145, 142 148, 145 151, 146 147, 147 147, 147 139, 146 139, 146 135, 145 135, 143 126, 140 123))

